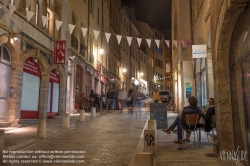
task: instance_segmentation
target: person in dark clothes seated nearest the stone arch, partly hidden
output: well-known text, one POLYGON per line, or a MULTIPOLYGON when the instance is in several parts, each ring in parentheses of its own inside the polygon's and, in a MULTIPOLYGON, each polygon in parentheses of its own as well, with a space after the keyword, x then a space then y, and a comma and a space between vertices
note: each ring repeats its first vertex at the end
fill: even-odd
POLYGON ((205 128, 205 132, 210 132, 213 128, 211 124, 211 117, 215 114, 214 98, 209 98, 209 107, 202 111, 199 126, 205 128))

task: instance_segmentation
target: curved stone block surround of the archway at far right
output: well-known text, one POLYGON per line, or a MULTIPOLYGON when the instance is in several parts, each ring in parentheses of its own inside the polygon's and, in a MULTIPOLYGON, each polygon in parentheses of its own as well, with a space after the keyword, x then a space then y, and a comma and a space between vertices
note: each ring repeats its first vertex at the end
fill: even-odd
MULTIPOLYGON (((226 1, 221 4, 217 27, 214 31, 213 64, 216 103, 217 150, 235 150, 230 93, 229 48, 239 14, 247 1, 226 1)), ((212 3, 213 5, 213 3, 212 3)))

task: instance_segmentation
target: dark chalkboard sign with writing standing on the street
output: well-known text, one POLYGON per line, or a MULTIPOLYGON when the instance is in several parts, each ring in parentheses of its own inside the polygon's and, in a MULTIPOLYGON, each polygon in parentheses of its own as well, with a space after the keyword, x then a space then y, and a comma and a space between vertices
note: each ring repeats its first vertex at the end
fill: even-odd
POLYGON ((167 104, 166 103, 151 103, 150 118, 156 120, 157 129, 167 129, 167 104))

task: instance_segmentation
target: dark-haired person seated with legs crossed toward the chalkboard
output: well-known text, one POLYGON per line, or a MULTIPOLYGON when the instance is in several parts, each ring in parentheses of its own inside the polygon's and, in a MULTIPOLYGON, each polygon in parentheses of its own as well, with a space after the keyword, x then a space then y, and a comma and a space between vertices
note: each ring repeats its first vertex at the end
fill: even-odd
MULTIPOLYGON (((171 131, 177 126, 177 140, 174 143, 182 143, 182 129, 188 129, 188 125, 185 123, 185 115, 186 114, 195 114, 198 113, 201 115, 202 111, 197 106, 198 100, 196 97, 191 96, 188 98, 189 106, 184 107, 181 113, 181 116, 177 116, 174 123, 168 129, 162 129, 164 132, 170 134, 171 131)), ((190 142, 191 132, 186 132, 186 139, 183 142, 190 142)))

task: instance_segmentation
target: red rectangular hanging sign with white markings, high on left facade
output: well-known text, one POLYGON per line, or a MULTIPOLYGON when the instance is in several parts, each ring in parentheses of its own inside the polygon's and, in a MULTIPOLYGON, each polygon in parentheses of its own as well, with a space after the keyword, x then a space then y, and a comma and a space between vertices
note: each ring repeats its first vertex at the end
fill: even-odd
POLYGON ((66 40, 54 42, 54 64, 65 64, 66 40))

